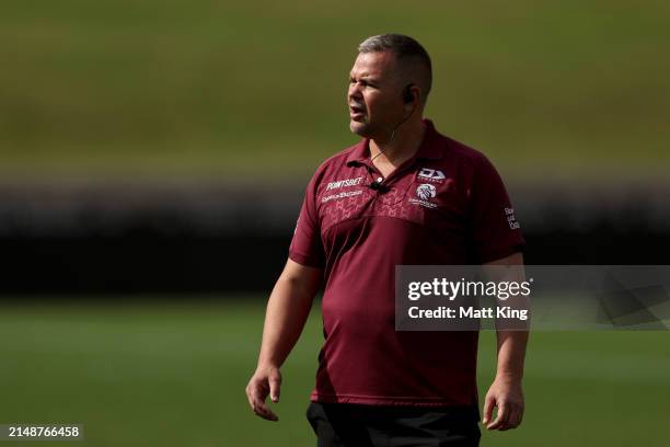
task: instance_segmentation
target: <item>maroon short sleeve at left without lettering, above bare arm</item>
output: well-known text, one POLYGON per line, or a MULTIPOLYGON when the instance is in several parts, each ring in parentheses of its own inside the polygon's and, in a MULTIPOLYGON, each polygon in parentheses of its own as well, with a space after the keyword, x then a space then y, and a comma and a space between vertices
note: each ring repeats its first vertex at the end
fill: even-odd
POLYGON ((321 226, 316 214, 316 180, 308 184, 300 216, 296 224, 289 257, 298 264, 323 268, 325 255, 321 241, 321 226))

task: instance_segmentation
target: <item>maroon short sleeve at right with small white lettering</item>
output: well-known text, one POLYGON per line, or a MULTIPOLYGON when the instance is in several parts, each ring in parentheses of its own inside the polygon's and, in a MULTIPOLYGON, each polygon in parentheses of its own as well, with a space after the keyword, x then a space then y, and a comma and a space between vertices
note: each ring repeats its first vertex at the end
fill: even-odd
POLYGON ((471 186, 471 237, 482 264, 522 251, 525 244, 503 179, 482 156, 471 186))

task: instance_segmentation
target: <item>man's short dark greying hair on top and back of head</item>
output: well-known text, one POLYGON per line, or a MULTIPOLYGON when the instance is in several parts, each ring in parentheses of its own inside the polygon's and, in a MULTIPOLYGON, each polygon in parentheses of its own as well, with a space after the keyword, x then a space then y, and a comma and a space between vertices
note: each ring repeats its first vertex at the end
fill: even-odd
POLYGON ((419 64, 425 69, 425 76, 423 78, 424 85, 421 88, 421 103, 426 103, 428 92, 432 84, 432 62, 428 51, 423 47, 416 39, 406 36, 404 34, 380 34, 378 36, 371 36, 366 38, 360 45, 358 45, 358 53, 381 53, 391 50, 395 54, 398 62, 402 64, 403 59, 413 58, 418 59, 419 64))

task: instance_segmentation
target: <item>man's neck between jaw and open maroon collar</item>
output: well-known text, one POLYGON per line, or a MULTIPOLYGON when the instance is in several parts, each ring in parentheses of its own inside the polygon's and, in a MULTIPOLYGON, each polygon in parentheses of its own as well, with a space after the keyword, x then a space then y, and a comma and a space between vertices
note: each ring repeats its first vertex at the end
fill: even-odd
POLYGON ((426 125, 421 121, 404 123, 386 140, 370 139, 370 158, 397 168, 414 157, 421 146, 425 133, 426 125))

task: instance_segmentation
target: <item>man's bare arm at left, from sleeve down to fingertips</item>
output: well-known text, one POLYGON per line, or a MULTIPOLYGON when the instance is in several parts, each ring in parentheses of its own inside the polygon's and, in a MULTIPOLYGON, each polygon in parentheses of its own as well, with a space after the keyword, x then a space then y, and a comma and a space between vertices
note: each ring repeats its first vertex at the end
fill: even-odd
POLYGON ((279 402, 279 368, 302 332, 322 276, 320 268, 288 260, 267 302, 258 365, 246 386, 246 397, 254 413, 268 421, 279 419, 265 400, 269 393, 273 402, 279 402))

